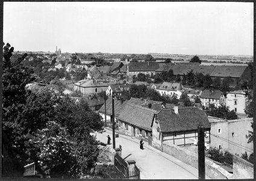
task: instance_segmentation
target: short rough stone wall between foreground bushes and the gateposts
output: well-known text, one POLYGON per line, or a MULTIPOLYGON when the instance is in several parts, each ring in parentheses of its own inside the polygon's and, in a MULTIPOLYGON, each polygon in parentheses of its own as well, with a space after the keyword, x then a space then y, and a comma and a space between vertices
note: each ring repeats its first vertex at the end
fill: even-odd
POLYGON ((100 153, 98 155, 97 164, 114 165, 115 150, 110 145, 106 147, 98 145, 98 148, 100 149, 100 153))

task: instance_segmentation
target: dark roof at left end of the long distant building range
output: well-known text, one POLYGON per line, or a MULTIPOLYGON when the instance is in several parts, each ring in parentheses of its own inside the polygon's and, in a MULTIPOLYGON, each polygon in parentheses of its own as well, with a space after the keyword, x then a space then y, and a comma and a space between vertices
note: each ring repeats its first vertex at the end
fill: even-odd
POLYGON ((155 71, 159 68, 157 62, 130 62, 129 71, 155 71))

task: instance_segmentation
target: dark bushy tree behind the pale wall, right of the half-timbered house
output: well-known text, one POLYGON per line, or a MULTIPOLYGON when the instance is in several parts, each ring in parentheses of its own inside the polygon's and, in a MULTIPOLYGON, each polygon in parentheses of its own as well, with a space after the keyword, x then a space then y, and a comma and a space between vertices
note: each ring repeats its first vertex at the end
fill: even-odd
POLYGON ((237 113, 234 110, 229 110, 229 107, 220 105, 219 107, 215 107, 214 104, 210 104, 209 109, 207 111, 209 116, 213 116, 216 118, 222 119, 238 119, 237 113))

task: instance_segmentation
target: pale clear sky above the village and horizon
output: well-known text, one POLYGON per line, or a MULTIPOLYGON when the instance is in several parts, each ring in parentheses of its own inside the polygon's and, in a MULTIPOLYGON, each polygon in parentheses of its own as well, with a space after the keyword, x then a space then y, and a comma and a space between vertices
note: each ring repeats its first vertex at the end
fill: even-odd
POLYGON ((253 55, 251 2, 4 2, 14 51, 253 55))

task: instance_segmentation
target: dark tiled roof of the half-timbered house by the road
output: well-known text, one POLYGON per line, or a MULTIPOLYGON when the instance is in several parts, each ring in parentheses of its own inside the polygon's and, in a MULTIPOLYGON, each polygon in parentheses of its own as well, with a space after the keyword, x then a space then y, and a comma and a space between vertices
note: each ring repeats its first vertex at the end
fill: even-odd
POLYGON ((176 114, 173 109, 166 108, 158 113, 162 133, 197 130, 199 125, 202 125, 204 129, 211 128, 206 113, 197 107, 179 107, 178 112, 176 114))

